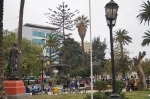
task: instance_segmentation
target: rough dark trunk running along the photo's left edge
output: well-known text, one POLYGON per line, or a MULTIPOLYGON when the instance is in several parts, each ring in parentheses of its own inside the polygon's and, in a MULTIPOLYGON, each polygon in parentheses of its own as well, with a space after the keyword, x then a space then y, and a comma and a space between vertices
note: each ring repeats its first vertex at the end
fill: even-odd
POLYGON ((3 7, 4 0, 0 0, 0 99, 7 99, 4 89, 3 7))

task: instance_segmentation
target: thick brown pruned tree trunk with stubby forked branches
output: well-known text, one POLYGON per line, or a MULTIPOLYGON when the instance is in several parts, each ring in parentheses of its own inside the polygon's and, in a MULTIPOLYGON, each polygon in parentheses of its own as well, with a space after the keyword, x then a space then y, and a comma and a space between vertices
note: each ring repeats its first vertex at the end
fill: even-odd
POLYGON ((145 55, 146 55, 146 52, 143 51, 143 53, 139 52, 138 58, 136 58, 136 57, 133 58, 134 65, 136 66, 137 75, 139 78, 139 90, 146 90, 147 89, 145 74, 144 74, 142 66, 141 66, 141 61, 145 55))

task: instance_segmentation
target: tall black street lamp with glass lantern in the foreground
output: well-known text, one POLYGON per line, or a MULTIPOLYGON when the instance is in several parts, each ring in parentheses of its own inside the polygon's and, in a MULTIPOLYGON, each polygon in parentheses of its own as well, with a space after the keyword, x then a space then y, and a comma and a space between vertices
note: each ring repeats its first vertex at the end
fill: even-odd
POLYGON ((112 28, 116 24, 118 7, 119 7, 118 4, 115 3, 113 0, 111 0, 105 6, 107 26, 110 29, 110 46, 111 46, 112 80, 113 80, 113 84, 112 84, 113 92, 111 95, 111 99, 120 99, 120 96, 119 96, 117 89, 116 89, 114 51, 113 51, 113 36, 112 36, 112 28))

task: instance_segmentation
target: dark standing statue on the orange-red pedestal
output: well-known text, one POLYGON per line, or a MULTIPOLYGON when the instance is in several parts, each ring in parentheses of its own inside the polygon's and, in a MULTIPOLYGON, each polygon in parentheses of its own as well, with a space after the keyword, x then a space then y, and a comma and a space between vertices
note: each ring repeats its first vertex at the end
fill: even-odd
POLYGON ((16 75, 16 71, 17 71, 17 61, 18 61, 18 55, 21 52, 19 52, 18 48, 17 48, 17 44, 13 43, 13 46, 10 50, 9 53, 9 57, 8 57, 8 67, 9 67, 9 79, 10 80, 16 80, 19 79, 16 75))

